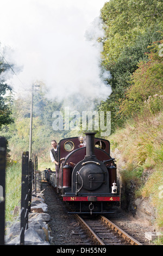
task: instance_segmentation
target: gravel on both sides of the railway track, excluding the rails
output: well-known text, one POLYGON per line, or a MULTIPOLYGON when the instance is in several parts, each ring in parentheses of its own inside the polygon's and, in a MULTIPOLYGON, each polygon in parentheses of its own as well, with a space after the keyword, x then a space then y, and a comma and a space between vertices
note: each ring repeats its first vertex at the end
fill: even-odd
MULTIPOLYGON (((66 206, 62 199, 57 196, 54 188, 47 183, 42 184, 45 188, 45 203, 48 206, 47 213, 51 216, 49 226, 51 227, 53 237, 52 245, 79 245, 84 241, 84 231, 78 224, 74 215, 67 214, 66 206)), ((145 232, 155 231, 154 227, 145 220, 137 220, 135 217, 127 215, 126 212, 118 211, 116 215, 105 215, 110 221, 121 227, 126 233, 133 236, 144 245, 150 245, 145 241, 145 232)), ((86 240, 87 241, 87 240, 86 240)), ((87 241, 89 244, 90 241, 87 241)), ((84 243, 86 244, 86 242, 84 243)))

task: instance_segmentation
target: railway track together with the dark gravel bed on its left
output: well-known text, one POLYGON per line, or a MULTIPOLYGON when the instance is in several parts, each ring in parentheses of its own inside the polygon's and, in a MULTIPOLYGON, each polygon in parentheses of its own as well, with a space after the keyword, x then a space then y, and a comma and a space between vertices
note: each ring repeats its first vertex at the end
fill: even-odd
MULTIPOLYGON (((90 215, 70 216, 67 214, 68 209, 66 205, 58 198, 56 191, 48 184, 43 184, 43 188, 46 188, 44 191, 45 199, 48 205, 48 213, 51 215, 49 225, 52 230, 53 245, 106 246, 145 244, 144 241, 141 241, 141 244, 129 236, 127 234, 128 229, 126 233, 117 227, 120 222, 117 222, 118 224, 115 225, 105 217, 100 216, 101 220, 99 220, 95 215, 92 217, 90 215), (83 224, 81 225, 79 222, 83 224), (89 226, 91 231, 88 231, 87 226, 89 226)), ((117 219, 113 218, 114 221, 117 221, 117 219)))

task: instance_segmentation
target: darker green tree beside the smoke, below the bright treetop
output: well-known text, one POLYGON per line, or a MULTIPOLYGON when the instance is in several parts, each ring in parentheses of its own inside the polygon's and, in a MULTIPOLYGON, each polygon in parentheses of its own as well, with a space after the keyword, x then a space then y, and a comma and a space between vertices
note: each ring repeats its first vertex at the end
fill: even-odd
POLYGON ((117 127, 122 127, 124 120, 126 120, 120 109, 122 101, 126 98, 126 90, 130 86, 131 75, 137 69, 139 60, 148 60, 148 56, 145 54, 147 46, 151 40, 159 35, 159 32, 153 35, 151 31, 147 31, 146 34, 138 36, 133 46, 124 48, 116 62, 110 62, 106 65, 106 69, 111 72, 108 83, 112 88, 112 93, 106 101, 101 102, 99 110, 111 111, 111 131, 115 131, 117 127))

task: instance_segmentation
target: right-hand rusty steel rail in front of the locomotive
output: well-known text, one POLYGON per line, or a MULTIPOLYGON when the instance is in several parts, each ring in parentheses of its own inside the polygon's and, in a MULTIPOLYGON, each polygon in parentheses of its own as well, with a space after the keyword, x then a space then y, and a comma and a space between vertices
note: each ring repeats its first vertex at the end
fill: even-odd
POLYGON ((128 235, 125 231, 123 231, 121 228, 119 228, 116 224, 112 223, 111 221, 109 221, 107 218, 105 218, 102 215, 100 217, 104 223, 109 225, 109 228, 115 230, 117 234, 122 236, 124 240, 127 240, 129 243, 131 243, 131 245, 142 245, 142 243, 136 241, 133 237, 128 235))

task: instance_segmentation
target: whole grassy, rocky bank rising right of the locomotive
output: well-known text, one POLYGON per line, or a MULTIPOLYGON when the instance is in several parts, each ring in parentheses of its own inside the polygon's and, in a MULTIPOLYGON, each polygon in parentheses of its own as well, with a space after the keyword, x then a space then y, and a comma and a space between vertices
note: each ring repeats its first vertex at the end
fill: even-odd
POLYGON ((162 112, 135 118, 109 137, 117 160, 121 207, 163 228, 162 112))

